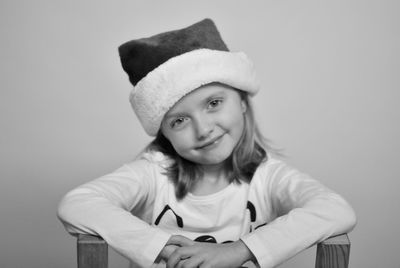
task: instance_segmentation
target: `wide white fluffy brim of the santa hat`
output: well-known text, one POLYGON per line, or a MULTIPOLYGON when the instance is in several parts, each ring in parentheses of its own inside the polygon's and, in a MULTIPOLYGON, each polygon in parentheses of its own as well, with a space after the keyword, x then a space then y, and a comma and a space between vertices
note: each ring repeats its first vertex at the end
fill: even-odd
POLYGON ((254 95, 260 85, 253 63, 243 52, 197 49, 170 58, 142 78, 130 103, 145 131, 156 136, 164 115, 183 96, 212 82, 254 95))

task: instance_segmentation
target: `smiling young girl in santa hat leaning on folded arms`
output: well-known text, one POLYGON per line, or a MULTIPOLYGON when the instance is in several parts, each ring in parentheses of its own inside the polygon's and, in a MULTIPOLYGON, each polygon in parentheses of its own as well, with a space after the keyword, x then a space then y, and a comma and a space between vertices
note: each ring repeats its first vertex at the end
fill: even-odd
POLYGON ((214 23, 120 46, 130 102, 155 136, 137 159, 69 192, 58 215, 140 267, 274 267, 349 232, 347 202, 271 156, 249 96, 244 53, 214 23))

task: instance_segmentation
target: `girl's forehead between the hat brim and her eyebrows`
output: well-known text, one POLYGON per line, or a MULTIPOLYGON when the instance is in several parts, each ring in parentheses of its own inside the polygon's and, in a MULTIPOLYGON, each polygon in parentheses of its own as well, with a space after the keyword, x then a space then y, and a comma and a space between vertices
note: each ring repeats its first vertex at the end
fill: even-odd
POLYGON ((232 87, 219 84, 212 83, 201 86, 186 96, 182 97, 172 108, 166 113, 165 117, 173 116, 177 113, 182 113, 192 108, 195 108, 204 102, 209 101, 214 97, 225 97, 231 95, 238 95, 237 90, 232 87))

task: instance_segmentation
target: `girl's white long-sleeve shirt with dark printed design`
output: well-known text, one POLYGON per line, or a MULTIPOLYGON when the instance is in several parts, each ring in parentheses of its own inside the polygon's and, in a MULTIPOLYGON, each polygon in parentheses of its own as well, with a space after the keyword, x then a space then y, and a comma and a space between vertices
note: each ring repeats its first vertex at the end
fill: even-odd
POLYGON ((205 196, 175 197, 161 153, 146 153, 70 191, 58 215, 68 232, 100 235, 141 267, 155 264, 171 235, 223 243, 241 239, 261 267, 274 267, 326 238, 349 232, 356 218, 338 194, 270 158, 252 181, 205 196))

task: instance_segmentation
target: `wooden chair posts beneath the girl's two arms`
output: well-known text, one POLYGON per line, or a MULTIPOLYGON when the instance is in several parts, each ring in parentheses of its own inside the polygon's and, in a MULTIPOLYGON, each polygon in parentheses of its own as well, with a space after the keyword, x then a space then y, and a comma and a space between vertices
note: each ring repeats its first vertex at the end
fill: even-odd
MULTIPOLYGON (((315 268, 347 268, 350 240, 347 234, 330 237, 317 245, 315 268)), ((97 236, 78 236, 78 268, 107 268, 108 245, 97 236)))

